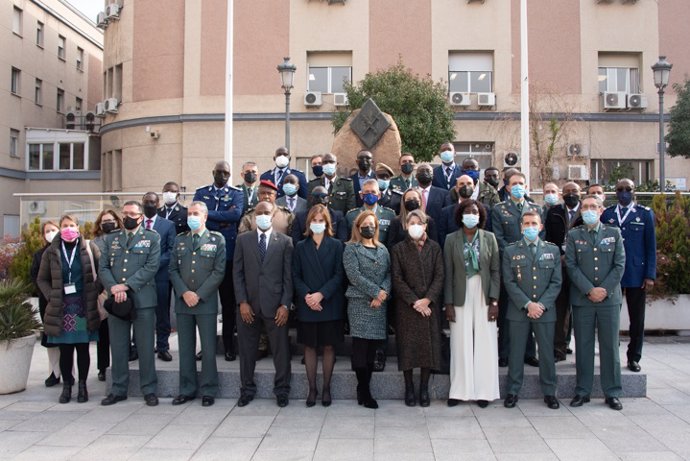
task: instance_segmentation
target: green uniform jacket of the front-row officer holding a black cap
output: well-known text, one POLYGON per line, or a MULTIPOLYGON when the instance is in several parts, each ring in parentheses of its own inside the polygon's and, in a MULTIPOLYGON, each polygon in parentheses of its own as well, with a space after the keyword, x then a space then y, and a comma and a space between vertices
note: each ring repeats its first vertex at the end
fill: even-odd
POLYGON ((158 302, 154 278, 161 256, 158 232, 141 225, 128 245, 127 231, 123 229, 106 236, 105 249, 98 264, 98 278, 108 295, 110 288, 124 283, 130 288, 137 309, 155 307, 158 302))

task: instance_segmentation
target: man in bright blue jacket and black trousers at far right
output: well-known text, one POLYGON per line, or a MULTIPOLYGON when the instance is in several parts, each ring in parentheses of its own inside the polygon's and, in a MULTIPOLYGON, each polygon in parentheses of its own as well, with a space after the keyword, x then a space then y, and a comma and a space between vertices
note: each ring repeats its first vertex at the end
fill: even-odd
POLYGON ((646 294, 656 279, 656 234, 654 212, 634 202, 635 183, 624 178, 616 183, 618 203, 608 207, 601 222, 616 226, 623 235, 625 272, 621 286, 625 292, 630 316, 628 369, 639 372, 644 342, 644 314, 646 294))

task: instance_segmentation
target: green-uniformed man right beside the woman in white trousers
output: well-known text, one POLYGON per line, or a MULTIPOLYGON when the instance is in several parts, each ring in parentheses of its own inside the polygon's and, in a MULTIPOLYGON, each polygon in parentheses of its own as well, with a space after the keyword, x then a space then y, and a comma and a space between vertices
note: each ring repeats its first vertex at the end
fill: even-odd
POLYGON ((522 215, 523 238, 503 250, 503 282, 508 293, 510 357, 508 390, 503 405, 513 408, 524 376, 523 357, 530 329, 539 345, 539 381, 544 402, 552 410, 560 407, 556 398, 556 363, 553 336, 556 327, 556 298, 561 290, 561 254, 558 247, 539 238, 543 226, 536 211, 522 215))

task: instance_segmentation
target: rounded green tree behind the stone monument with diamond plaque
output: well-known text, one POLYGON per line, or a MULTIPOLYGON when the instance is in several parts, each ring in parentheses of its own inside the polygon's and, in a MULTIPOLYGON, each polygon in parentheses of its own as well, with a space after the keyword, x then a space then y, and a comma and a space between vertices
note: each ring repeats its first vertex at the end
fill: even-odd
POLYGON ((418 161, 430 161, 439 145, 455 137, 446 85, 433 82, 430 76, 422 78, 412 74, 401 61, 388 69, 367 74, 357 84, 346 83, 345 91, 349 107, 334 113, 336 133, 352 111, 371 98, 398 125, 403 152, 412 152, 418 161))

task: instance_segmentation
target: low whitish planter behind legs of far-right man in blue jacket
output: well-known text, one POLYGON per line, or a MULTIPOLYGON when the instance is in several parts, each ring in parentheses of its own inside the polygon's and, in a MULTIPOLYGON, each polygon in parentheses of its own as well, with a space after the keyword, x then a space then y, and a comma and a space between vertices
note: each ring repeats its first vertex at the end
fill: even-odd
MULTIPOLYGON (((630 318, 628 305, 623 299, 621 309, 621 330, 628 331, 630 318)), ((657 299, 647 302, 645 330, 675 330, 690 333, 690 295, 679 295, 674 301, 657 299)))

